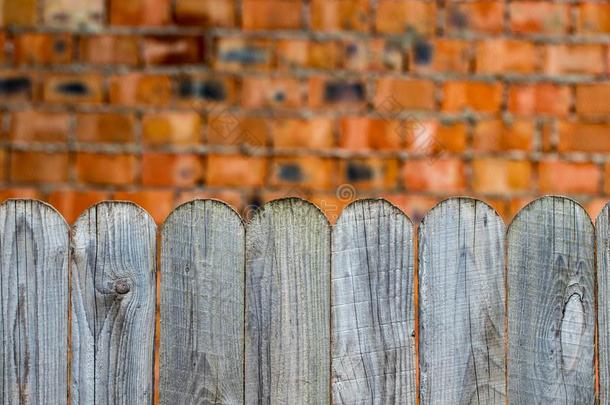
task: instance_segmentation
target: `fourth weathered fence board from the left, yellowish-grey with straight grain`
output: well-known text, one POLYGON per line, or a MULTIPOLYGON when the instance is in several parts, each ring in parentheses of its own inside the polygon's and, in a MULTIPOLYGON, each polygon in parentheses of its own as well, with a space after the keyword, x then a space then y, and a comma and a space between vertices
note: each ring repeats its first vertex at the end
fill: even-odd
POLYGON ((246 229, 247 404, 330 400, 330 226, 310 203, 272 201, 246 229))

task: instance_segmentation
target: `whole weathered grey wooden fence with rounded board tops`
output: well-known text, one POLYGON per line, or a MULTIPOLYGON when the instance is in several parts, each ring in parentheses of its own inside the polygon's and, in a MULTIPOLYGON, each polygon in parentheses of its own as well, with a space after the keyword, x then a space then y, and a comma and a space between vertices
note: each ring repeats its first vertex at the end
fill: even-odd
POLYGON ((608 207, 594 228, 544 197, 505 231, 452 198, 416 254, 384 200, 332 229, 299 199, 247 225, 199 200, 163 225, 158 275, 155 224, 131 203, 70 232, 9 200, 0 224, 1 404, 610 403, 608 207))

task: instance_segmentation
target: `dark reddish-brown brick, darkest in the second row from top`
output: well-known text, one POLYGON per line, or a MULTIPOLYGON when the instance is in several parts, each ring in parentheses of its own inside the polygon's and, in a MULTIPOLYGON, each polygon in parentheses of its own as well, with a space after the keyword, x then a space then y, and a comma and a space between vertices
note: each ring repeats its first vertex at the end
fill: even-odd
POLYGON ((142 53, 147 65, 194 64, 203 60, 203 42, 195 36, 148 37, 142 53))

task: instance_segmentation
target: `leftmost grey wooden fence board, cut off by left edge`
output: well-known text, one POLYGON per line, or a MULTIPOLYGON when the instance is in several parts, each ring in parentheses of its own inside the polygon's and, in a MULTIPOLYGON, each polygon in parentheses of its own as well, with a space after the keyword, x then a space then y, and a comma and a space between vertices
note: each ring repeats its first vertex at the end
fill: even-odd
POLYGON ((65 404, 68 225, 39 201, 0 205, 0 403, 65 404))

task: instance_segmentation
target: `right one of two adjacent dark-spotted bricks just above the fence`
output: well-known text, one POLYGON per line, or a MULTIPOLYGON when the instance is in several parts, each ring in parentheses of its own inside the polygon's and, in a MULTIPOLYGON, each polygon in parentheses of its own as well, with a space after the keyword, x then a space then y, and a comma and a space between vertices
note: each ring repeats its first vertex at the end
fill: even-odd
MULTIPOLYGON (((340 182, 357 190, 388 190, 398 185, 396 159, 350 159, 339 163, 340 182)), ((339 186, 341 188, 341 186, 339 186)))

